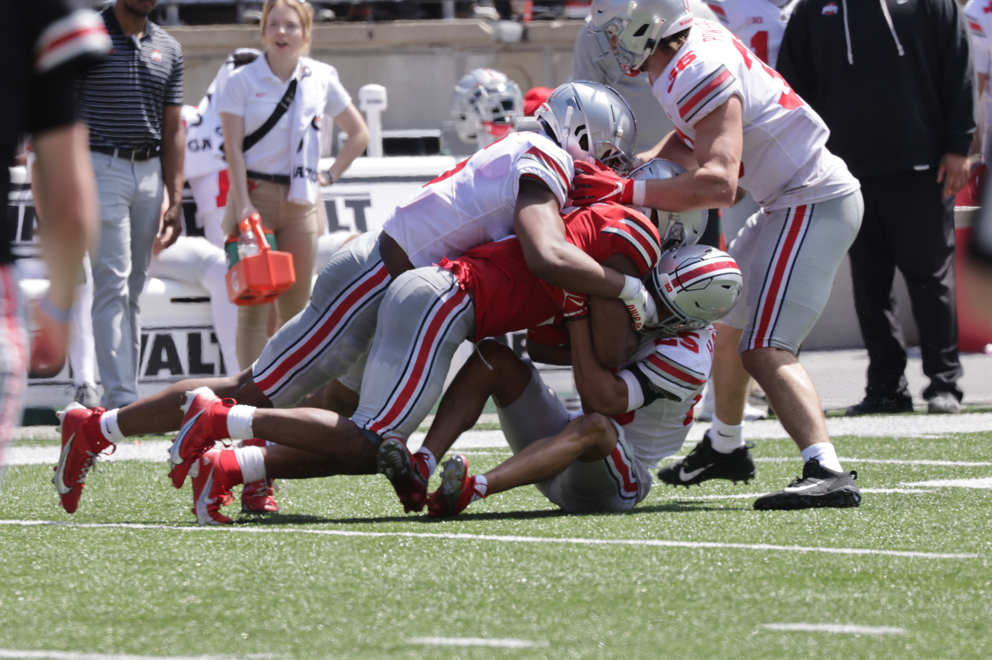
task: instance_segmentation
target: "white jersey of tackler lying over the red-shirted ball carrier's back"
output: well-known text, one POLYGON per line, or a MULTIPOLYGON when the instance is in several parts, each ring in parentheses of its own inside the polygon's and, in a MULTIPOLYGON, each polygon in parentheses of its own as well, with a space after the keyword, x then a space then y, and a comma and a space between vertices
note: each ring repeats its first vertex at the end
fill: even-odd
POLYGON ((424 268, 515 234, 522 176, 551 188, 564 208, 574 175, 571 157, 544 133, 513 133, 425 185, 382 228, 415 268, 424 268))

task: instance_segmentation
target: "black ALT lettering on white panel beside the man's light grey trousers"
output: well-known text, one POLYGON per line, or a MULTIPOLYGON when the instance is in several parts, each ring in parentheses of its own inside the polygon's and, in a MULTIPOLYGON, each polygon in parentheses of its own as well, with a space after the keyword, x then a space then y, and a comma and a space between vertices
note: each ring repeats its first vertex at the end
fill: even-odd
POLYGON ((139 381, 179 381, 191 376, 226 376, 229 373, 212 327, 143 330, 139 381))

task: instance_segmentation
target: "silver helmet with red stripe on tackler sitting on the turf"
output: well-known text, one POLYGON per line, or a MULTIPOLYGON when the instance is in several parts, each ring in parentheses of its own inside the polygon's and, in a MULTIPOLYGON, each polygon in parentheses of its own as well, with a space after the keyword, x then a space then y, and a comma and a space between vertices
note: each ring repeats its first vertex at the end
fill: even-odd
POLYGON ((646 283, 659 302, 658 323, 641 332, 671 337, 726 316, 744 280, 737 262, 722 250, 685 245, 663 254, 646 283))

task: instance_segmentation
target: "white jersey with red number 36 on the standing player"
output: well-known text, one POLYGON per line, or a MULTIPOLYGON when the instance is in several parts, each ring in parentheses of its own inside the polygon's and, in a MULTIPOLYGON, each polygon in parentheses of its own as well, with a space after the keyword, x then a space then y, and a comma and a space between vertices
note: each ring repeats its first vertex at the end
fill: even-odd
POLYGON ((765 211, 841 197, 860 188, 847 165, 826 149, 826 124, 775 69, 751 54, 719 23, 696 19, 653 85, 693 146, 696 123, 727 102, 741 101, 744 146, 739 184, 765 211))

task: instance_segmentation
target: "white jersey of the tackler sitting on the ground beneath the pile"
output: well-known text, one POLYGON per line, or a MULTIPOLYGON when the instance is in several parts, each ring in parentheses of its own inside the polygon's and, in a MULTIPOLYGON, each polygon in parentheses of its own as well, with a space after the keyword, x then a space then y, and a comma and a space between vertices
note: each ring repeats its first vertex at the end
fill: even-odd
POLYGON ((630 364, 617 371, 632 409, 613 419, 648 470, 678 452, 692 428, 692 406, 713 366, 715 334, 708 326, 668 339, 647 337, 630 364))

